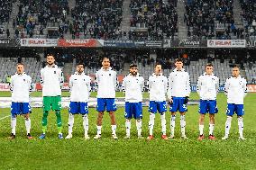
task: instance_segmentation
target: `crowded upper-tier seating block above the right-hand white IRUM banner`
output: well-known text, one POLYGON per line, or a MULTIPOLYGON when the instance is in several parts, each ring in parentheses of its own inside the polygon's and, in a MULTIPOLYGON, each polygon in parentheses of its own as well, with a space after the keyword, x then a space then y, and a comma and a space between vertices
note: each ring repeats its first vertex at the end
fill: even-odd
POLYGON ((187 0, 187 37, 193 39, 244 39, 243 28, 236 28, 233 0, 187 0))

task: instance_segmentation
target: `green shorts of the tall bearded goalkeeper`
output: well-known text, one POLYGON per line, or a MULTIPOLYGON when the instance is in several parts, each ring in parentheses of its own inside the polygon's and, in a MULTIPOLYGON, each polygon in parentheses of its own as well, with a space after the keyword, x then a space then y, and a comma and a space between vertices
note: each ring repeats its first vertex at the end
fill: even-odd
POLYGON ((43 111, 60 111, 61 109, 61 96, 43 96, 43 111))

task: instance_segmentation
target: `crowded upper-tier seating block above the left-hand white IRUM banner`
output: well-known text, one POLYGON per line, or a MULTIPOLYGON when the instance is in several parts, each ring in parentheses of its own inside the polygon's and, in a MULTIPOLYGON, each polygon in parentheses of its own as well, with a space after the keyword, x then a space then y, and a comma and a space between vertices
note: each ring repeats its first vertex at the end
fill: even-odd
POLYGON ((63 37, 64 32, 68 31, 68 26, 65 24, 68 11, 68 0, 20 0, 15 35, 19 38, 63 37), (47 32, 47 28, 56 22, 56 31, 47 32))

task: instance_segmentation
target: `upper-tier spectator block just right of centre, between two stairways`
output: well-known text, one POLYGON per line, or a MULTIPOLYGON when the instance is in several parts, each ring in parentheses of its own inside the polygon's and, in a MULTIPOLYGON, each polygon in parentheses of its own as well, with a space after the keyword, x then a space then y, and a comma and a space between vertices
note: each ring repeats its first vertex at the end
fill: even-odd
POLYGON ((162 40, 178 36, 178 14, 173 1, 132 0, 130 40, 162 40))

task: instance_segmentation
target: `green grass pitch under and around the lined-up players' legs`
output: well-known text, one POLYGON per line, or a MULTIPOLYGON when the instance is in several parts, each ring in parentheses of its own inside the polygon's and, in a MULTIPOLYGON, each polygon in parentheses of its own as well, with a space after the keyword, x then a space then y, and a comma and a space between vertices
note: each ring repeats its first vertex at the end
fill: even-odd
MULTIPOLYGON (((33 96, 41 96, 34 93, 33 96)), ((65 93, 64 96, 69 94, 65 93)), ((93 93, 93 96, 96 94, 93 93)), ((9 96, 2 93, 1 96, 9 96)), ((123 96, 118 93, 117 96, 123 96)), ((145 94, 144 96, 147 96, 145 94)), ((197 94, 191 94, 198 99, 197 94)), ((244 137, 238 140, 238 125, 233 117, 230 139, 221 140, 224 136, 226 119, 226 97, 218 94, 219 113, 215 116, 215 141, 204 139, 197 141, 198 106, 189 105, 186 115, 187 140, 180 139, 179 119, 176 121, 176 138, 168 141, 160 139, 160 115, 156 116, 154 136, 150 142, 136 139, 135 121, 132 121, 132 139, 124 140, 125 126, 123 108, 116 112, 118 140, 111 139, 110 119, 105 113, 102 139, 92 139, 96 134, 96 110, 89 109, 89 136, 83 139, 81 116, 75 117, 73 139, 59 140, 57 137, 56 118, 50 112, 47 138, 38 139, 41 134, 42 109, 32 109, 32 135, 25 136, 23 117, 18 117, 16 139, 8 140, 10 135, 10 109, 0 108, 0 169, 256 169, 256 94, 245 98, 244 137)), ((143 108, 142 134, 148 136, 148 108, 143 108)), ((62 110, 63 134, 68 133, 68 109, 62 110)), ((169 135, 169 112, 166 114, 169 135)), ((179 116, 178 116, 179 117, 179 116)), ((208 134, 208 117, 205 123, 205 136, 208 134)))

